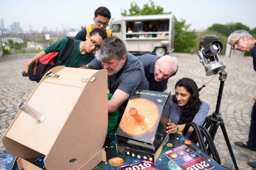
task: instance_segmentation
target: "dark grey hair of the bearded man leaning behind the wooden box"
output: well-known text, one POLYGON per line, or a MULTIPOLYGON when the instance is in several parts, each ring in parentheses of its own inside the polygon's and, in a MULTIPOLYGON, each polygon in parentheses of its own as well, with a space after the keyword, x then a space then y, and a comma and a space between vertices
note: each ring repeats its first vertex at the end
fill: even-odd
POLYGON ((115 57, 120 60, 127 55, 125 43, 116 36, 106 38, 99 49, 96 59, 100 62, 105 62, 108 59, 115 57))

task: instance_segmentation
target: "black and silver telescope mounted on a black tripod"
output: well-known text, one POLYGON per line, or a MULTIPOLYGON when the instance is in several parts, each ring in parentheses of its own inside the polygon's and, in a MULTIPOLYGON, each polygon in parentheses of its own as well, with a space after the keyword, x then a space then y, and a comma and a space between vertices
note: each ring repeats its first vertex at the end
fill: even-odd
MULTIPOLYGON (((205 48, 201 48, 198 51, 198 57, 200 62, 204 65, 206 75, 211 76, 214 74, 216 75, 219 74, 220 76, 219 80, 221 81, 215 112, 213 112, 212 115, 207 116, 202 126, 206 127, 207 130, 209 130, 209 133, 212 136, 213 140, 218 127, 221 126, 221 130, 226 140, 228 150, 230 151, 230 156, 233 160, 235 169, 238 170, 238 166, 236 164, 236 158, 234 156, 230 141, 227 136, 227 131, 224 125, 224 121, 222 119, 221 113, 219 113, 224 81, 227 80, 227 72, 224 70, 226 66, 223 65, 223 63, 219 60, 219 56, 218 56, 218 54, 222 51, 222 49, 223 49, 223 45, 220 41, 212 41, 205 48)), ((206 87, 205 84, 201 88, 199 88, 198 91, 200 91, 204 87, 206 87)), ((209 148, 208 148, 208 152, 209 152, 209 148)), ((229 168, 225 167, 224 169, 229 169, 229 168)))

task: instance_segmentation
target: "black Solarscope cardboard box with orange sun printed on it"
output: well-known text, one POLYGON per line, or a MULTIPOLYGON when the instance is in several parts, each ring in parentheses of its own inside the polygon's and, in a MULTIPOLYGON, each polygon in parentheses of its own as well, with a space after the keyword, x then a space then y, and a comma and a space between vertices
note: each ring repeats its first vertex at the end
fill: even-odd
POLYGON ((164 92, 134 91, 116 131, 118 153, 153 162, 157 160, 168 140, 165 128, 169 114, 162 112, 169 96, 164 92))

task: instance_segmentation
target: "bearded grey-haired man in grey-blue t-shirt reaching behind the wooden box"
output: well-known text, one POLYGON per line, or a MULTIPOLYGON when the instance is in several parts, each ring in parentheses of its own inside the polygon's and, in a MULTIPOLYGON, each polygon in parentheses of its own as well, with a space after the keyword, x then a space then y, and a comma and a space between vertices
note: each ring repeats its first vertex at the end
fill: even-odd
POLYGON ((106 38, 101 48, 89 66, 108 70, 108 89, 112 98, 108 100, 108 112, 118 108, 117 129, 128 99, 135 90, 148 90, 143 64, 126 51, 125 43, 116 36, 106 38))

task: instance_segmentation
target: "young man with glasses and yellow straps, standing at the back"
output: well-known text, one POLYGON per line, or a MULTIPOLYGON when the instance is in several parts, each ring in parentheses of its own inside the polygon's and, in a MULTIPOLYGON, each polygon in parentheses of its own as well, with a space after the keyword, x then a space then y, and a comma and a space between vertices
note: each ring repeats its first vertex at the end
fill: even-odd
POLYGON ((107 36, 111 36, 111 30, 107 28, 109 20, 111 19, 111 13, 108 8, 101 6, 94 12, 93 21, 94 24, 86 25, 84 28, 76 34, 75 40, 86 40, 86 34, 90 33, 95 28, 102 28, 106 31, 107 36))

